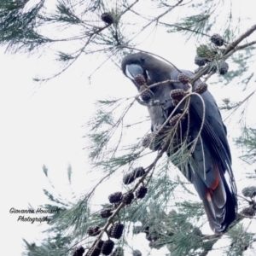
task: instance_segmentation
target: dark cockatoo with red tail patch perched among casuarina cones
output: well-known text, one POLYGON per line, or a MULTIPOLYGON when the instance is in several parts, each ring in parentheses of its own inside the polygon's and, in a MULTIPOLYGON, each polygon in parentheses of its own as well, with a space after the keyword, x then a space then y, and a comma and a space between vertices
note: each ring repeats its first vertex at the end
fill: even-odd
MULTIPOLYGON (((165 61, 142 52, 126 55, 122 61, 122 71, 126 77, 139 89, 137 81, 134 79, 137 75, 143 76, 147 84, 155 84, 166 80, 177 80, 179 71, 165 61)), ((193 73, 182 70, 189 77, 193 73)), ((201 81, 198 80, 193 85, 195 88, 201 81)), ((148 112, 152 122, 152 131, 158 131, 168 118, 169 114, 175 108, 175 102, 172 101, 170 93, 175 89, 188 90, 188 85, 182 83, 166 82, 150 88, 154 95, 154 101, 160 104, 148 104, 148 112)), ((236 183, 231 169, 230 147, 227 141, 226 127, 222 121, 218 106, 207 90, 201 94, 205 103, 205 121, 201 136, 195 144, 194 151, 191 153, 193 165, 186 166, 183 172, 189 182, 193 183, 199 194, 207 218, 212 230, 216 233, 222 233, 236 218, 236 183)), ((181 113, 182 109, 177 109, 181 113)), ((188 131, 187 136, 190 141, 197 137, 200 131, 203 117, 203 105, 200 97, 191 96, 189 104, 189 114, 185 115, 181 129, 182 136, 188 131), (188 121, 189 116, 189 121, 188 121)))

